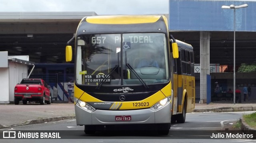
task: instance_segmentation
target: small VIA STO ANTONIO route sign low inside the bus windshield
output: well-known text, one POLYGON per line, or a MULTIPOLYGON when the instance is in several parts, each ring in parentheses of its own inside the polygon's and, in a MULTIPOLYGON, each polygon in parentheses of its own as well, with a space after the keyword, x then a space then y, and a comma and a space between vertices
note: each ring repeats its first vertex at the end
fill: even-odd
POLYGON ((110 82, 110 75, 84 75, 85 82, 110 82))

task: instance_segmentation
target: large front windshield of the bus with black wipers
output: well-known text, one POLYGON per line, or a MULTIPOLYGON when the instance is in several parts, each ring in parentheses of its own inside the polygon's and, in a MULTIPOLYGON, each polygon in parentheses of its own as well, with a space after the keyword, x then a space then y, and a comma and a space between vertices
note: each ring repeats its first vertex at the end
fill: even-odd
POLYGON ((104 85, 164 83, 169 80, 164 33, 78 35, 78 84, 104 85))

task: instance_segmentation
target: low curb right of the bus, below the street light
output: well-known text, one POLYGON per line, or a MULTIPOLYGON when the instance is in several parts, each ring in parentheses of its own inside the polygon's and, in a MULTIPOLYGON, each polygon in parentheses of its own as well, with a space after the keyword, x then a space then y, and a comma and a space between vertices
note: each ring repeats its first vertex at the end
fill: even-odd
POLYGON ((241 111, 256 111, 256 106, 201 108, 201 109, 193 110, 193 112, 241 112, 241 111))

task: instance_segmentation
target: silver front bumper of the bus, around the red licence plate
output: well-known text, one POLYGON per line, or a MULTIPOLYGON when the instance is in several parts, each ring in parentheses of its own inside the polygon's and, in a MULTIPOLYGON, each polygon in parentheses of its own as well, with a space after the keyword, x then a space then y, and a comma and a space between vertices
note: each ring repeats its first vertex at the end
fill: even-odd
POLYGON ((150 109, 140 110, 95 110, 88 112, 75 104, 77 125, 114 125, 114 124, 152 124, 170 123, 171 103, 163 108, 152 111, 150 109), (116 121, 116 116, 130 116, 130 121, 116 121))

